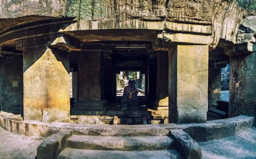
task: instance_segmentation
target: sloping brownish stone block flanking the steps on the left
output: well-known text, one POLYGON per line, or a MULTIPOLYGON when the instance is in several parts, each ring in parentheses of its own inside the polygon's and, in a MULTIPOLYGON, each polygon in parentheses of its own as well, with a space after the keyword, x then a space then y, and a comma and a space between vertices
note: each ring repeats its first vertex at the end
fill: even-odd
POLYGON ((37 147, 38 159, 55 159, 66 148, 66 141, 72 136, 72 132, 73 130, 62 129, 44 139, 37 147))

